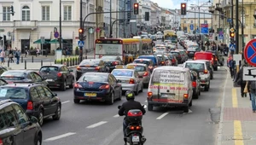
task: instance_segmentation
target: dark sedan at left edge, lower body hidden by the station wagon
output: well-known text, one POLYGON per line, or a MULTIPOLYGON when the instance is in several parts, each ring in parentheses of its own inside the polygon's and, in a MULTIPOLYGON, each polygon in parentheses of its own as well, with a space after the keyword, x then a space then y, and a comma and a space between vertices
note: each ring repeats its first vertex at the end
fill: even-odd
POLYGON ((33 83, 49 86, 48 82, 35 71, 32 70, 9 70, 4 72, 0 78, 8 83, 33 83))

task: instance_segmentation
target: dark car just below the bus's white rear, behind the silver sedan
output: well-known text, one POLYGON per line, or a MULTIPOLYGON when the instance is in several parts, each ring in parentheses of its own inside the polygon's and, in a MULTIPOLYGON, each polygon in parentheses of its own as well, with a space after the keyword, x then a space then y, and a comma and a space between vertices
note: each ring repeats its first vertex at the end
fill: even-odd
POLYGON ((117 65, 123 64, 123 61, 119 56, 105 55, 102 56, 101 60, 104 61, 106 66, 109 68, 108 73, 111 73, 117 65))

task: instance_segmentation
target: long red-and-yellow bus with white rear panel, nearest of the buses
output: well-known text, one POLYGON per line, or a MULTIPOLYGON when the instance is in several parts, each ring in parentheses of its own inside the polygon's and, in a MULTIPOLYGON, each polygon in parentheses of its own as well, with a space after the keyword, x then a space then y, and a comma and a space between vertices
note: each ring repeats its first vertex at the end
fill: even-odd
POLYGON ((139 55, 152 53, 152 40, 149 38, 99 38, 95 41, 95 59, 103 55, 116 55, 127 64, 139 55))

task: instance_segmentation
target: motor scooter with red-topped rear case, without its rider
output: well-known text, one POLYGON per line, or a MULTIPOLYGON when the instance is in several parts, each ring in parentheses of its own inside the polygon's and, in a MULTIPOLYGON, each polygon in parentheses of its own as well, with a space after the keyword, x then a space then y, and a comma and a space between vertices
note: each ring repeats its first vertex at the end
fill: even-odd
MULTIPOLYGON (((143 107, 145 106, 143 105, 143 107)), ((125 129, 126 141, 130 145, 143 145, 147 140, 143 136, 143 112, 139 109, 132 109, 127 113, 126 119, 129 122, 125 129)))

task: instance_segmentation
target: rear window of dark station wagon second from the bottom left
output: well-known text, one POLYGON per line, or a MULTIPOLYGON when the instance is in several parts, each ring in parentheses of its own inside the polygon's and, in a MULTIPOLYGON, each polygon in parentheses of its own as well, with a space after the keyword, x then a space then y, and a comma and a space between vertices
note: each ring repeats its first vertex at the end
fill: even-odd
POLYGON ((26 99, 27 93, 25 88, 4 87, 0 88, 1 99, 26 99))

